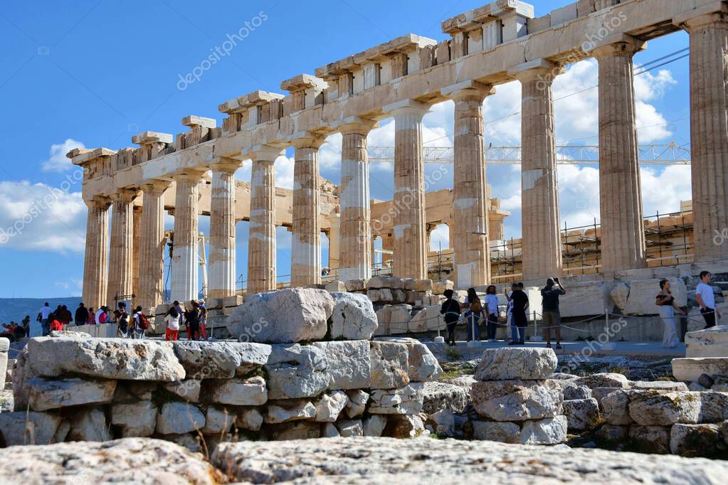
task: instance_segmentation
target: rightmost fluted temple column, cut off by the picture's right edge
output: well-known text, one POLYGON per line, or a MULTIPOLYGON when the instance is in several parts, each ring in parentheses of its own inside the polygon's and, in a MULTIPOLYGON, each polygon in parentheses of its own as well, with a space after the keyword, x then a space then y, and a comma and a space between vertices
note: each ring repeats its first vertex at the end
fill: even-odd
POLYGON ((690 34, 695 261, 728 259, 728 7, 677 19, 690 34))

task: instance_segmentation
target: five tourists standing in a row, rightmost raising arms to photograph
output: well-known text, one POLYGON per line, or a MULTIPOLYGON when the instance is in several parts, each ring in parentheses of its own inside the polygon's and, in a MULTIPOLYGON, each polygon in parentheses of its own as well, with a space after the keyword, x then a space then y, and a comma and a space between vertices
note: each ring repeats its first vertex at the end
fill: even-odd
MULTIPOLYGON (((546 286, 541 289, 542 296, 542 321, 546 330, 546 346, 551 347, 551 329, 556 337, 556 348, 561 348, 561 313, 558 309, 558 297, 566 294, 558 278, 548 278, 546 286)), ((486 322, 486 339, 488 342, 496 342, 496 330, 500 316, 498 308, 498 296, 495 285, 487 286, 484 302, 480 301, 475 288, 467 290, 467 297, 461 303, 454 299, 454 292, 446 290, 445 298, 440 314, 445 319, 448 329, 446 343, 455 345, 455 327, 461 318, 467 323, 467 340, 480 340, 478 324, 486 322)), ((505 297, 508 302, 506 310, 507 326, 511 329, 511 341, 509 345, 526 345, 526 326, 528 318, 526 312, 529 310, 529 296, 523 291, 523 283, 514 283, 510 286, 510 292, 505 289, 505 297)))

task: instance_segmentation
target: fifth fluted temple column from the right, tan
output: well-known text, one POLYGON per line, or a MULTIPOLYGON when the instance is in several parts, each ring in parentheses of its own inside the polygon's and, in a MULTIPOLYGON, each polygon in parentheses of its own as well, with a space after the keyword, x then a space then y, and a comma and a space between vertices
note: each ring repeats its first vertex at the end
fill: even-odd
POLYGON ((422 117, 428 105, 403 100, 382 108, 395 119, 394 263, 400 278, 427 278, 422 117))

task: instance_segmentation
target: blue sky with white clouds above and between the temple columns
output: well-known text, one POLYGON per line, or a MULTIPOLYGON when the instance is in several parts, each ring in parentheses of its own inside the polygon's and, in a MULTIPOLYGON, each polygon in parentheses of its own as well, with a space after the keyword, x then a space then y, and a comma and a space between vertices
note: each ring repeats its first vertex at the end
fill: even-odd
MULTIPOLYGON (((280 92, 280 81, 405 33, 445 39, 440 22, 480 7, 483 0, 442 1, 35 1, 12 2, 0 12, 0 228, 25 216, 19 236, 0 242, 6 277, 0 297, 52 297, 80 294, 83 270, 85 207, 74 169, 63 158, 69 148, 130 146, 145 130, 175 134, 189 114, 218 119, 217 106, 256 89, 280 92), (258 17, 258 21, 256 20, 258 17), (264 20, 263 20, 264 19, 264 20), (230 55, 202 73, 199 81, 179 89, 179 76, 199 66, 227 34, 248 22, 250 34, 230 55), (66 181, 66 183, 64 183, 66 181), (62 188, 51 207, 33 212, 53 188, 62 188), (68 190, 66 190, 68 189, 68 190), (30 214, 30 215, 29 215, 30 214)), ((569 3, 533 2, 537 16, 569 3)), ((688 46, 676 33, 649 43, 636 57, 646 63, 688 46)), ((639 76, 638 126, 644 143, 689 143, 688 60, 681 59, 639 76)), ((571 66, 557 79, 555 97, 596 84, 596 63, 571 66)), ((596 95, 556 103, 561 144, 596 145, 596 95)), ((517 145, 520 116, 518 83, 499 87, 486 100, 486 143, 517 145)), ((429 146, 450 145, 452 107, 443 103, 425 118, 429 146)), ((371 145, 393 141, 392 125, 370 135, 371 145)), ((339 182, 340 137, 331 137, 321 153, 324 177, 339 182)), ((436 169, 430 167, 429 170, 436 169)), ((278 185, 290 184, 292 165, 277 161, 278 185)), ((249 168, 237 175, 249 180, 249 168)), ((506 235, 520 236, 518 167, 490 167, 495 196, 513 215, 506 235)), ((596 169, 561 167, 561 215, 569 225, 598 217, 596 169)), ((432 189, 451 186, 451 175, 432 189)), ((374 165, 372 197, 392 196, 392 167, 374 165)), ((676 210, 689 199, 689 169, 643 170, 645 212, 676 210)), ((171 224, 171 218, 167 223, 171 224)), ((207 217, 200 220, 206 231, 207 217)), ((247 268, 248 233, 240 223, 238 272, 247 268)), ((1 239, 1 238, 0 238, 1 239)), ((433 244, 447 245, 439 230, 433 244)), ((290 234, 279 233, 279 273, 288 274, 290 234)), ((324 261, 327 259, 324 254, 324 261)))

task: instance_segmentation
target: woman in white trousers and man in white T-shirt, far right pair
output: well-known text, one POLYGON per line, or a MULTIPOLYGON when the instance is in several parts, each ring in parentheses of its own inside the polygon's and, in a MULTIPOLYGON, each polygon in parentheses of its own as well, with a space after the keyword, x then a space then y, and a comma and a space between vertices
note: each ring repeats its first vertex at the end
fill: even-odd
MULTIPOLYGON (((713 275, 710 271, 702 271, 700 273, 700 283, 695 288, 695 300, 700 305, 700 314, 705 321, 705 329, 716 326, 716 316, 721 318, 720 313, 716 310, 716 294, 713 291, 711 282, 713 275)), ((675 322, 675 313, 681 316, 687 316, 687 313, 680 308, 670 291, 670 281, 667 279, 660 280, 660 293, 655 297, 655 305, 660 307, 660 318, 665 324, 662 332, 662 347, 675 348, 680 342, 677 332, 677 324, 675 322)))

